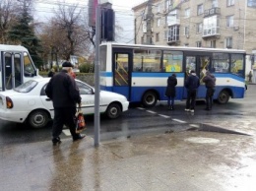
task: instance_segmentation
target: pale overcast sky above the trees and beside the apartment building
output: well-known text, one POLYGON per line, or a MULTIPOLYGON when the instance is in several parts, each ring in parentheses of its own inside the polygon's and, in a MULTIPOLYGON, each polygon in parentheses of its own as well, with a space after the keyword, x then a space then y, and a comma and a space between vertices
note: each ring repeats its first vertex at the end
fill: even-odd
MULTIPOLYGON (((112 8, 115 11, 116 25, 120 26, 123 31, 118 32, 118 42, 132 43, 134 38, 134 16, 132 7, 139 5, 147 0, 110 0, 112 8)), ((58 2, 63 0, 35 0, 35 20, 47 21, 53 14, 53 8, 58 2)), ((88 9, 88 0, 65 0, 65 4, 78 4, 79 7, 88 9)))

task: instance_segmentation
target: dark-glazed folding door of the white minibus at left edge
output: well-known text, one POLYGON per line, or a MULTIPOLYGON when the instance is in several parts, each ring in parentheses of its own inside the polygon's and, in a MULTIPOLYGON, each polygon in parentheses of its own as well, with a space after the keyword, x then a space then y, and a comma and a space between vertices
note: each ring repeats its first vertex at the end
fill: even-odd
POLYGON ((12 90, 23 82, 22 54, 2 52, 2 91, 12 90))

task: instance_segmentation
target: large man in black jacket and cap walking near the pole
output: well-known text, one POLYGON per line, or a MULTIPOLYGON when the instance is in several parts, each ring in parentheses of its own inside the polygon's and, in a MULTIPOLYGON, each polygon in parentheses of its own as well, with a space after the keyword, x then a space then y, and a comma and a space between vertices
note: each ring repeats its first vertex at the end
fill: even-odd
POLYGON ((45 89, 45 94, 52 100, 54 107, 53 145, 61 143, 59 136, 63 125, 69 127, 73 141, 85 137, 76 133, 76 106, 81 104, 81 96, 75 80, 69 75, 72 72, 72 67, 70 62, 64 62, 62 70, 50 79, 45 89))

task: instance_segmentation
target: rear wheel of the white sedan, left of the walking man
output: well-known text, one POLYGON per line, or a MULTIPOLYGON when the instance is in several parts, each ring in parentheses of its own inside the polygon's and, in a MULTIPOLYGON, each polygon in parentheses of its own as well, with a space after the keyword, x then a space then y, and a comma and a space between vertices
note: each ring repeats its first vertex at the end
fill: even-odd
POLYGON ((28 122, 32 128, 42 128, 47 125, 49 115, 44 110, 34 110, 29 115, 28 122))

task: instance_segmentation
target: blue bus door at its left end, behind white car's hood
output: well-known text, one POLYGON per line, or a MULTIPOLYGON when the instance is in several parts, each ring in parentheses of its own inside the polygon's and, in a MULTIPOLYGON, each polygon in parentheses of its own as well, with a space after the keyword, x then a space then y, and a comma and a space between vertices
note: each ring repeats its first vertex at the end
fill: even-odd
POLYGON ((132 51, 113 48, 112 56, 113 92, 130 100, 132 51))

